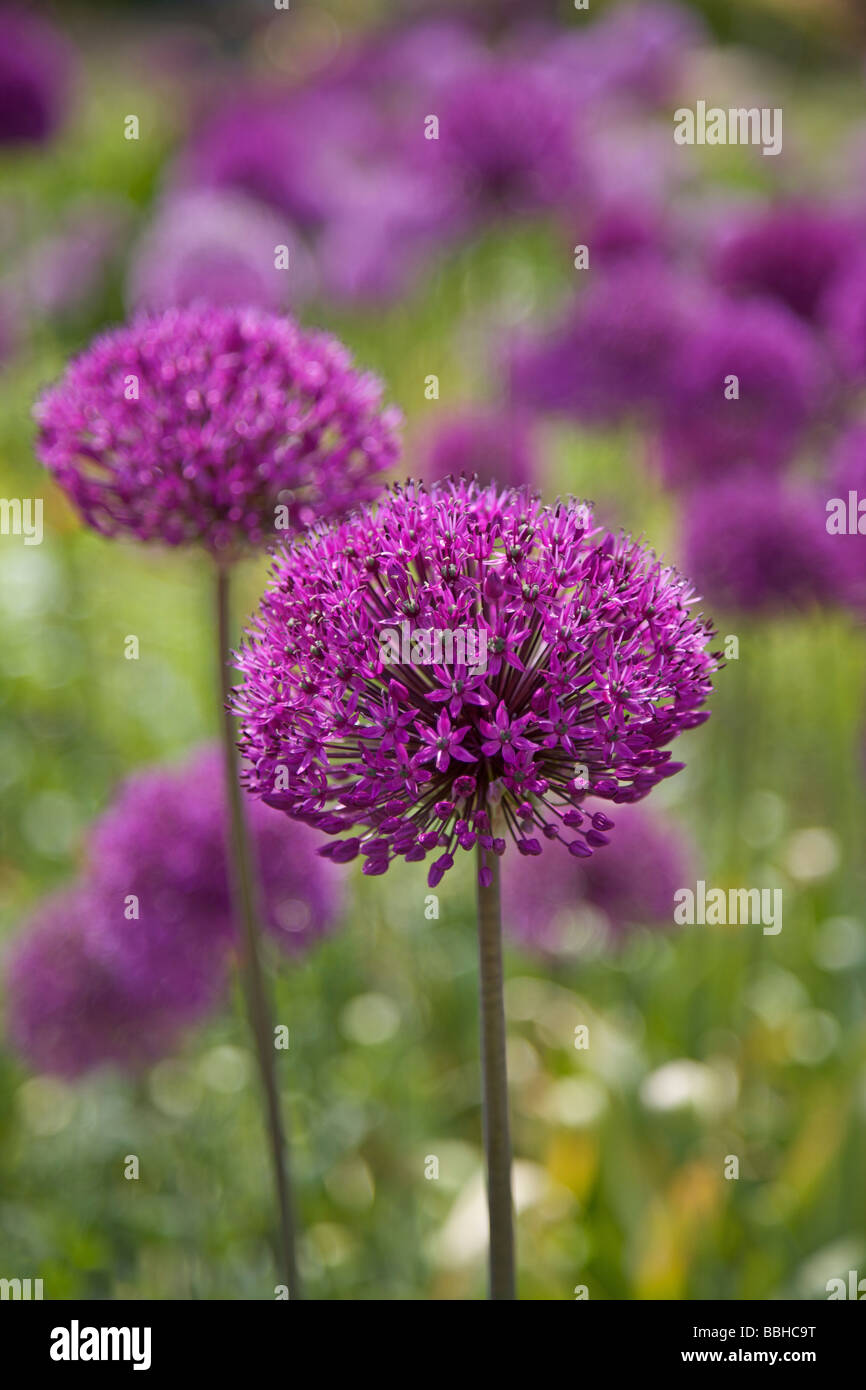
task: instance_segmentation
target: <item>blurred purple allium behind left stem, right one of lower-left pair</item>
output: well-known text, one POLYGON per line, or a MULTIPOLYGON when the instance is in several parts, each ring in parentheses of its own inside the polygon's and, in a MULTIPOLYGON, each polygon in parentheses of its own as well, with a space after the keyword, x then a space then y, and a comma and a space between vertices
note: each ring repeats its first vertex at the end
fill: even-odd
MULTIPOLYGON (((316 856, 307 826, 288 826, 263 802, 250 805, 263 926, 300 952, 334 926, 338 876, 316 856)), ((100 913, 95 940, 135 998, 190 1011, 218 997, 238 945, 228 859, 225 771, 218 749, 183 766, 138 773, 89 838, 100 913), (138 919, 128 920, 129 895, 138 919)))

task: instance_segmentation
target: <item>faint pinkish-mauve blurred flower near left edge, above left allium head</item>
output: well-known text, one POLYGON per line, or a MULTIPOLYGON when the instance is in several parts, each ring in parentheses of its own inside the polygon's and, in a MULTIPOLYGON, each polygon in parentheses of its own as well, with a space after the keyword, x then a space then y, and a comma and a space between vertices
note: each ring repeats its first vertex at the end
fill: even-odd
POLYGON ((122 203, 88 199, 63 218, 63 229, 38 242, 22 271, 32 313, 64 318, 86 309, 104 289, 128 225, 122 203))

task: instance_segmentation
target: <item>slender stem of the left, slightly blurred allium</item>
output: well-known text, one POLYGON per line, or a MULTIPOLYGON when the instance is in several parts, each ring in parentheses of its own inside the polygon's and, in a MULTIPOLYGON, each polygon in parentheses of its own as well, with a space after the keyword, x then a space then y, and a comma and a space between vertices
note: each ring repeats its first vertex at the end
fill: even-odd
POLYGON ((279 1209, 279 1255, 289 1298, 300 1298, 297 1259, 295 1255, 295 1216, 292 1202, 292 1182, 289 1172, 289 1150, 279 1105, 277 1069, 274 1063, 274 1027, 271 1001, 261 969, 259 949, 259 887, 253 869, 250 834, 243 809, 243 791, 239 781, 239 756, 235 742, 235 720, 228 709, 231 694, 229 680, 229 571, 217 567, 217 664, 220 670, 220 701, 222 712, 222 746, 225 753, 225 781, 231 821, 231 867, 235 912, 243 929, 243 984, 250 1027, 256 1041, 259 1073, 265 1101, 267 1130, 279 1209))

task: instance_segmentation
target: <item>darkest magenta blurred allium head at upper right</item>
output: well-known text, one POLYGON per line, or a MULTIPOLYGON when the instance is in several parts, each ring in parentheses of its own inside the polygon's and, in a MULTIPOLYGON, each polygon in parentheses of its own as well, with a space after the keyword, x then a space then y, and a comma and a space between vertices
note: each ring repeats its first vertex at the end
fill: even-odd
POLYGON ((808 203, 737 214, 721 228, 710 272, 734 295, 777 299, 813 320, 858 242, 848 213, 808 203))

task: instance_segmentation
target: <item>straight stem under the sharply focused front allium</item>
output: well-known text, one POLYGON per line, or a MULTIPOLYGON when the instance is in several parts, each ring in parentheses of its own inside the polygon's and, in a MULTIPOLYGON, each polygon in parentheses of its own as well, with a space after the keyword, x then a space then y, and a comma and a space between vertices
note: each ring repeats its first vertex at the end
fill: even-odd
POLYGON ((509 1079, 505 1052, 502 990, 502 912, 499 858, 478 847, 478 869, 488 860, 489 887, 478 883, 478 966, 481 990, 481 1068, 484 1086, 484 1148, 491 1220, 489 1297, 516 1298, 514 1219, 512 1209, 512 1140, 509 1079))

